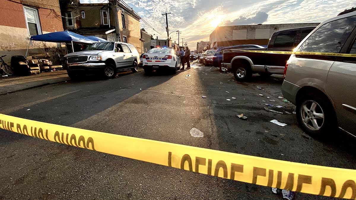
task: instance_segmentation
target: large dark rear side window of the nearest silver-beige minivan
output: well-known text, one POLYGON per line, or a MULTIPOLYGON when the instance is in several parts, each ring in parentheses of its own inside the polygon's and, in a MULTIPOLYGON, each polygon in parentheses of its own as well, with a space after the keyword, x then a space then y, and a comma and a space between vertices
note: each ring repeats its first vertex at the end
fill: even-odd
POLYGON ((356 16, 325 23, 304 41, 298 51, 340 53, 355 26, 356 16))

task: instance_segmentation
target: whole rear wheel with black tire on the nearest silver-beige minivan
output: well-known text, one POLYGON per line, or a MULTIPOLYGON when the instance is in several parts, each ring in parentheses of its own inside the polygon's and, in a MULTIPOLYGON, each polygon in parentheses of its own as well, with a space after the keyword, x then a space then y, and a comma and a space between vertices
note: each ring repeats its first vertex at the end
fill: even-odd
POLYGON ((299 126, 311 136, 328 136, 336 130, 334 108, 329 99, 319 93, 308 93, 297 99, 296 115, 299 126))

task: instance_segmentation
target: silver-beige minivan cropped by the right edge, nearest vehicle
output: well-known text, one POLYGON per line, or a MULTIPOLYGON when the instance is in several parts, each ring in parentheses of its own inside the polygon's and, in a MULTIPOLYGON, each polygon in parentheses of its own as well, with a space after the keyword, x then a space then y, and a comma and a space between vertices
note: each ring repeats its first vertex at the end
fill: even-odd
POLYGON ((286 64, 282 93, 297 106, 300 127, 315 136, 337 127, 356 136, 356 12, 320 23, 295 51, 334 53, 293 54, 286 64))

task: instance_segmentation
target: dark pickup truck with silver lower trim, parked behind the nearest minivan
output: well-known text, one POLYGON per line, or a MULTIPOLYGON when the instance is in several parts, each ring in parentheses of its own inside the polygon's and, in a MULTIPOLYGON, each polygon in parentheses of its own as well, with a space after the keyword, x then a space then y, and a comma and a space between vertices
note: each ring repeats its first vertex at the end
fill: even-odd
MULTIPOLYGON (((272 34, 267 48, 247 50, 293 51, 314 28, 315 26, 276 31, 272 34)), ((221 65, 234 73, 236 80, 245 81, 255 73, 262 76, 284 74, 284 67, 289 57, 289 54, 253 53, 231 49, 224 51, 221 65)))

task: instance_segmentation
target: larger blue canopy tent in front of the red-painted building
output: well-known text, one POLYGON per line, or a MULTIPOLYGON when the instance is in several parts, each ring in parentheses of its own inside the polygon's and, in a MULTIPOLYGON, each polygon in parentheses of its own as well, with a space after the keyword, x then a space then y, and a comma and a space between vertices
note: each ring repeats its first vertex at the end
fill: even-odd
MULTIPOLYGON (((43 41, 43 42, 58 42, 58 43, 70 42, 72 44, 73 52, 74 52, 73 42, 86 43, 86 44, 98 42, 98 40, 91 40, 88 37, 85 37, 85 36, 79 35, 77 33, 70 32, 70 31, 52 32, 52 33, 46 33, 46 34, 37 35, 37 36, 31 36, 30 43, 32 40, 33 41, 43 41)), ((25 57, 27 56, 28 48, 30 48, 30 43, 28 43, 25 57)))

